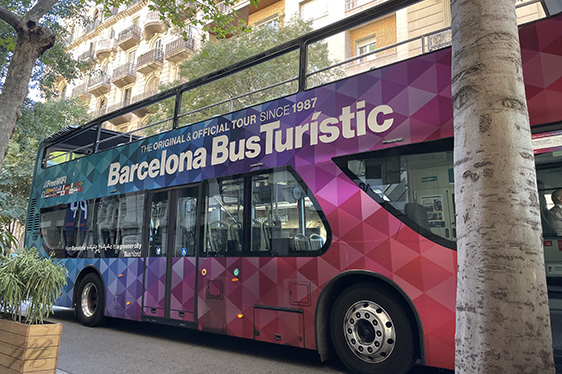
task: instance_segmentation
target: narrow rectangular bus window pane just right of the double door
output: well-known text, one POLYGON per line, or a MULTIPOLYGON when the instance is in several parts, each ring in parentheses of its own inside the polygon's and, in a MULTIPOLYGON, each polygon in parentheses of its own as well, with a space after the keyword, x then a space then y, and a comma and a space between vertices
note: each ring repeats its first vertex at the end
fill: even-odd
POLYGON ((244 179, 213 179, 207 183, 204 255, 242 254, 244 179))

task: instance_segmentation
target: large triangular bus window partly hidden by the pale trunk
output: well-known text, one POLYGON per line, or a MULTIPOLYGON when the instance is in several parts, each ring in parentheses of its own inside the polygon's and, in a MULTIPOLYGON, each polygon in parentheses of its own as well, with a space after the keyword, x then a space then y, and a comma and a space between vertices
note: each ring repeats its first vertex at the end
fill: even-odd
POLYGON ((346 156, 336 163, 362 190, 412 229, 454 247, 453 152, 448 143, 346 156), (431 152, 436 148, 442 150, 431 152))

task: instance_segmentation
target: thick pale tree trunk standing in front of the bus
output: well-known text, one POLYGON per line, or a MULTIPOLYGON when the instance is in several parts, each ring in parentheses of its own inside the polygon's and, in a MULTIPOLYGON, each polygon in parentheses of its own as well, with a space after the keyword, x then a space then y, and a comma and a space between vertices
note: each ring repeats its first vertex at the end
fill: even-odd
POLYGON ((452 2, 456 373, 554 373, 515 0, 452 2))

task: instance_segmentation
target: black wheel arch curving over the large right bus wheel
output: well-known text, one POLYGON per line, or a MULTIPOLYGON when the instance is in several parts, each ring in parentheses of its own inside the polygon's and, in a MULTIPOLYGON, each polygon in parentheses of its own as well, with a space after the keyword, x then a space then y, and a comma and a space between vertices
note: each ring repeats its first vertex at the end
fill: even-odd
POLYGON ((404 290, 393 280, 381 274, 366 270, 351 270, 343 272, 332 280, 320 292, 316 303, 315 323, 316 323, 316 349, 320 354, 320 359, 326 361, 332 353, 332 342, 330 338, 330 312, 334 301, 345 289, 357 283, 371 283, 384 287, 390 291, 395 299, 402 305, 408 317, 415 324, 416 358, 425 364, 425 344, 423 338, 423 326, 417 309, 412 300, 406 295, 404 290))

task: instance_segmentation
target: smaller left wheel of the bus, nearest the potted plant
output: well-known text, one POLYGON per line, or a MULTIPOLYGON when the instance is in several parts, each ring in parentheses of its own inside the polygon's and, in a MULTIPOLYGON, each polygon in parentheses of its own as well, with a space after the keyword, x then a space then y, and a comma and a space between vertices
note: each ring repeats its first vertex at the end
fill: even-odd
POLYGON ((105 289, 96 274, 87 274, 76 294, 76 316, 85 326, 97 326, 103 321, 105 309, 105 289))

